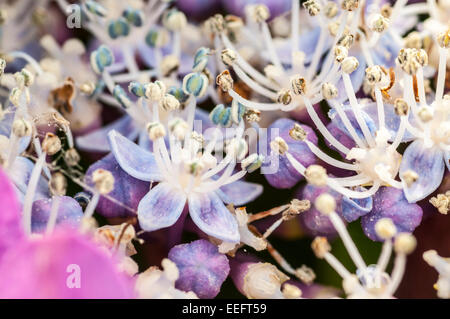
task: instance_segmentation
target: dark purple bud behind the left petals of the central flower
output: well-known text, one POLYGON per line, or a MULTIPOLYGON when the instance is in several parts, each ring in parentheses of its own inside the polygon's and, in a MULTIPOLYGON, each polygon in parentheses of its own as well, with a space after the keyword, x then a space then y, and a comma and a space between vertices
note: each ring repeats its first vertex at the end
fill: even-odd
POLYGON ((96 211, 105 217, 135 216, 140 200, 148 193, 149 183, 136 179, 125 172, 117 163, 113 154, 108 154, 92 164, 86 172, 85 182, 94 186, 92 173, 98 169, 105 169, 114 176, 114 189, 108 193, 123 205, 118 205, 108 198, 101 196, 96 211))

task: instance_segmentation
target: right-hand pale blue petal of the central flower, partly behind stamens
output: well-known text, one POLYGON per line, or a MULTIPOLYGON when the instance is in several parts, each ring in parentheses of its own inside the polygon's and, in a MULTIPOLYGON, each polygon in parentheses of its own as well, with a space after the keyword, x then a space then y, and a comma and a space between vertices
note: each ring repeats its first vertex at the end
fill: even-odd
POLYGON ((218 194, 226 204, 240 206, 253 201, 261 195, 263 187, 256 183, 236 181, 222 186, 220 191, 218 194))

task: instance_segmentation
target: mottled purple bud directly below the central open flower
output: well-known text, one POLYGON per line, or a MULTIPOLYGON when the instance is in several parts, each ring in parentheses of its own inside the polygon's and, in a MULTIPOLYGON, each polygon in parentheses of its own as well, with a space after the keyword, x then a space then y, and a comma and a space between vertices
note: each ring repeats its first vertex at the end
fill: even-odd
POLYGON ((175 246, 168 257, 180 271, 176 288, 193 291, 203 299, 217 296, 230 272, 228 258, 218 252, 217 246, 204 239, 175 246))

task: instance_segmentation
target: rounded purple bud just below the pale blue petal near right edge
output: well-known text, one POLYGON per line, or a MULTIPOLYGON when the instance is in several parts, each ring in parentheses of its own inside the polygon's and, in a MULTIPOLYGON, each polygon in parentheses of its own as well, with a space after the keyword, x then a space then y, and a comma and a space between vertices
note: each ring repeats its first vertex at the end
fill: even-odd
POLYGON ((398 232, 412 232, 419 226, 422 214, 422 208, 408 203, 402 190, 382 187, 373 196, 373 210, 361 218, 361 225, 367 237, 381 241, 375 233, 375 224, 379 219, 392 219, 398 232))

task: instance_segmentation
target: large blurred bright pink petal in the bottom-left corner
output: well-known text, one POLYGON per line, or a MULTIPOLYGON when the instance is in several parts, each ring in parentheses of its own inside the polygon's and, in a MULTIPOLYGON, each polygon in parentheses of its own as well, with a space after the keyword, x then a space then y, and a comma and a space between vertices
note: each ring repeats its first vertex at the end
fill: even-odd
POLYGON ((4 255, 0 273, 0 298, 134 297, 133 281, 118 271, 114 259, 73 230, 16 245, 4 255))

